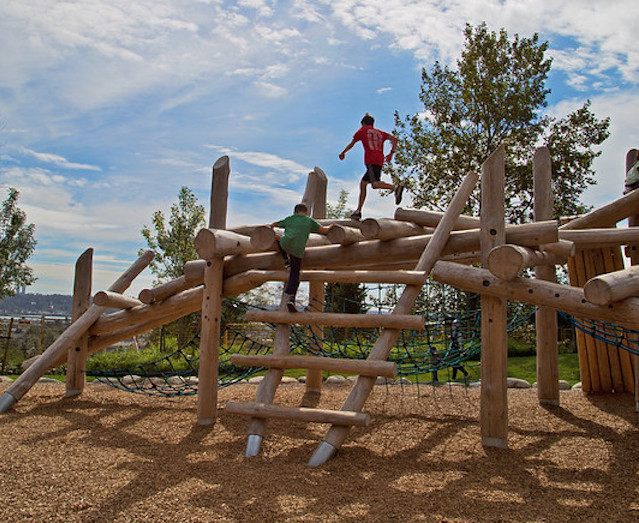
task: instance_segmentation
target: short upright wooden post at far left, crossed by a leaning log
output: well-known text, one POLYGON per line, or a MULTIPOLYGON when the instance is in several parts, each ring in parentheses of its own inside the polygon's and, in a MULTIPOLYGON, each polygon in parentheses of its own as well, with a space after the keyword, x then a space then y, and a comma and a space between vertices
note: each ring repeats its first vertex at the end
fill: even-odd
MULTIPOLYGON (((91 281, 93 279, 93 249, 87 249, 75 264, 73 306, 71 321, 77 321, 91 306, 91 281)), ((67 350, 66 396, 77 396, 84 390, 85 371, 89 348, 89 333, 85 332, 67 350)))

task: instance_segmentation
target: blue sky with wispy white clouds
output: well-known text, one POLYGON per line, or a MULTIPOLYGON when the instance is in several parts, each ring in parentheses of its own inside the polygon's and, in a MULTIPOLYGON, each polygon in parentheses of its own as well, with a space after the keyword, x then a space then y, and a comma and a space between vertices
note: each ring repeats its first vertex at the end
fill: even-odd
MULTIPOLYGON (((90 247, 108 288, 182 186, 208 215, 223 155, 229 227, 290 214, 314 166, 354 208, 363 154, 339 152, 364 113, 390 132, 423 109, 421 70, 454 66, 466 23, 548 41, 547 114, 610 117, 584 197, 608 203, 639 147, 637 20, 636 0, 0 0, 0 200, 17 188, 35 224, 28 292, 71 294, 90 247)), ((369 191, 364 215, 394 207, 369 191)))

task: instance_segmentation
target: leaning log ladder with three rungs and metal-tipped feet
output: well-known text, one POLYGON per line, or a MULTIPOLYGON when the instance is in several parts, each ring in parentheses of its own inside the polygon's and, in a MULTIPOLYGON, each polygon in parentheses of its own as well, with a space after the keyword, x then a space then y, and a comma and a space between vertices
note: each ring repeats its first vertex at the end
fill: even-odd
MULTIPOLYGON (((453 230, 457 218, 461 214, 468 197, 472 193, 479 177, 475 173, 468 173, 453 197, 448 209, 444 213, 432 238, 422 253, 415 271, 424 275, 433 269, 439 259, 450 232, 453 230)), ((359 315, 359 314, 330 314, 330 313, 289 313, 285 312, 284 298, 280 304, 280 311, 249 311, 248 321, 270 321, 276 324, 273 353, 270 356, 235 355, 231 361, 238 364, 262 365, 268 367, 264 379, 260 383, 254 403, 229 402, 226 412, 251 416, 246 445, 246 457, 259 454, 266 419, 270 417, 287 418, 306 422, 330 423, 324 440, 320 443, 309 461, 310 466, 319 466, 328 461, 346 439, 352 425, 368 425, 370 416, 361 412, 378 376, 395 376, 397 366, 386 361, 391 348, 395 344, 401 329, 416 328, 421 325, 423 318, 411 316, 410 312, 419 296, 422 284, 407 284, 399 298, 395 309, 389 315, 359 315), (258 319, 259 318, 259 319, 258 319), (289 356, 289 326, 291 323, 306 325, 334 325, 334 326, 376 326, 382 327, 368 358, 364 361, 337 360, 316 356, 289 356), (286 368, 319 368, 322 370, 338 370, 357 373, 357 381, 339 411, 309 409, 305 407, 282 407, 272 405, 275 391, 284 375, 286 368)))

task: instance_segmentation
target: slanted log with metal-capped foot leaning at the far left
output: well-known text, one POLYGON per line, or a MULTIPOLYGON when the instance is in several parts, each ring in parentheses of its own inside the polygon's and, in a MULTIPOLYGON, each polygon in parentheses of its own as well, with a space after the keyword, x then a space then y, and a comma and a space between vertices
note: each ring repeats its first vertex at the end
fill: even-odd
MULTIPOLYGON (((140 256, 114 283, 108 290, 113 292, 124 292, 135 277, 153 259, 153 251, 146 251, 140 256)), ((18 401, 35 384, 36 381, 50 368, 50 365, 66 356, 69 347, 77 343, 77 340, 87 332, 87 329, 104 312, 104 307, 91 305, 82 316, 80 316, 71 326, 66 329, 44 353, 26 369, 18 379, 5 391, 5 394, 13 396, 18 401)))

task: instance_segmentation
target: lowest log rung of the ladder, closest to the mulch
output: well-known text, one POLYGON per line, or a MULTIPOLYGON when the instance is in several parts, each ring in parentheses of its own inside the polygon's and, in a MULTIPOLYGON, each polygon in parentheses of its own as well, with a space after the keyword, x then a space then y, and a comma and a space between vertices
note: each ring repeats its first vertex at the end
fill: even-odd
POLYGON ((224 409, 231 414, 241 414, 253 418, 285 418, 308 423, 331 423, 333 425, 366 426, 370 414, 345 410, 309 409, 306 407, 282 407, 265 403, 229 401, 224 409))

